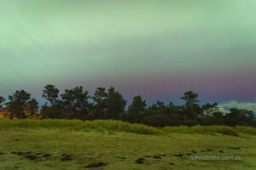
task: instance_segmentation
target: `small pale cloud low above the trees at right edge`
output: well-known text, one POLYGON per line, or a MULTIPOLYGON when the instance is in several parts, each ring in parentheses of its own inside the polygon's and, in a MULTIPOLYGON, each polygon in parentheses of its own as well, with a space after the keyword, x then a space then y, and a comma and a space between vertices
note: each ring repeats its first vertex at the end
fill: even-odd
POLYGON ((256 102, 237 102, 236 100, 218 105, 221 111, 229 111, 230 108, 247 109, 256 112, 256 102))

